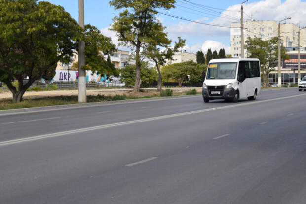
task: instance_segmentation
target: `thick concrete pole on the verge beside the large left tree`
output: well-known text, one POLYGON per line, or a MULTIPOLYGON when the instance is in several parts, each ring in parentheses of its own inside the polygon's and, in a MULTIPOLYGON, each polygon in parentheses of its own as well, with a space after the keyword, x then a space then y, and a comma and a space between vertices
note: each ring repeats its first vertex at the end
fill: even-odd
MULTIPOLYGON (((78 24, 85 28, 84 23, 84 0, 78 0, 78 24)), ((85 42, 78 43, 78 102, 86 103, 86 70, 82 69, 85 66, 85 42)))

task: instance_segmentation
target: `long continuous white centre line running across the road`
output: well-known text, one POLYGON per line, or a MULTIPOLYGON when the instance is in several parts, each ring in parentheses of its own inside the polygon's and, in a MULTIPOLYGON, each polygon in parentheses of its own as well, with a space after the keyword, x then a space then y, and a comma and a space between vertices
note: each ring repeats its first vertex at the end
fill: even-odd
POLYGON ((26 138, 22 138, 22 139, 3 141, 3 142, 0 142, 0 146, 22 143, 22 142, 28 142, 28 141, 35 141, 35 140, 46 139, 46 138, 51 138, 51 137, 66 136, 66 135, 70 135, 70 134, 87 132, 87 131, 92 131, 92 130, 100 130, 100 129, 105 129, 105 128, 109 128, 109 127, 117 127, 117 126, 122 126, 122 125, 140 123, 140 122, 156 121, 156 120, 161 120, 161 119, 168 119, 168 118, 186 116, 186 115, 197 114, 197 113, 205 113, 205 112, 210 112, 210 111, 215 111, 215 110, 223 110, 223 109, 229 109, 229 108, 240 107, 240 106, 248 106, 248 105, 253 105, 253 104, 260 104, 260 103, 265 103, 265 102, 278 101, 278 100, 288 99, 288 98, 296 98, 296 97, 305 96, 305 95, 306 94, 299 94, 299 95, 286 96, 286 97, 281 97, 281 98, 273 98, 273 99, 267 99, 267 100, 262 100, 262 101, 249 102, 249 103, 237 103, 237 104, 234 104, 234 105, 221 106, 221 107, 217 107, 217 108, 201 109, 201 110, 196 110, 196 111, 189 111, 189 112, 176 113, 176 114, 170 114, 170 115, 164 115, 164 116, 157 116, 157 117, 146 118, 146 119, 139 119, 139 120, 134 120, 134 121, 117 122, 117 123, 113 123, 113 124, 104 124, 104 125, 99 125, 99 126, 94 126, 94 127, 86 127, 86 128, 80 128, 80 129, 63 131, 63 132, 55 132, 55 133, 50 133, 50 134, 45 134, 45 135, 26 137, 26 138))

